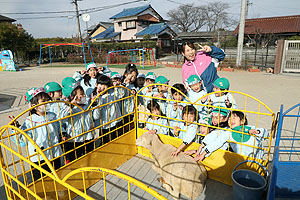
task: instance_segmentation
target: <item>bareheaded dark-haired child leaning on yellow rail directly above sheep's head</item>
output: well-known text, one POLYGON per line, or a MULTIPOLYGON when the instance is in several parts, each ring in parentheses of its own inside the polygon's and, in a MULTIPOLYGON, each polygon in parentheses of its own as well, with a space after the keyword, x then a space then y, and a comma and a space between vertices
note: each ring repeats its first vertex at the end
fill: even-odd
POLYGON ((153 99, 147 105, 147 109, 151 111, 152 115, 147 119, 145 130, 149 130, 150 134, 168 134, 168 121, 162 116, 164 114, 161 112, 158 103, 153 99), (157 116, 158 115, 158 116, 157 116), (150 123, 148 123, 150 122, 150 123), (161 126, 163 125, 163 126, 161 126))

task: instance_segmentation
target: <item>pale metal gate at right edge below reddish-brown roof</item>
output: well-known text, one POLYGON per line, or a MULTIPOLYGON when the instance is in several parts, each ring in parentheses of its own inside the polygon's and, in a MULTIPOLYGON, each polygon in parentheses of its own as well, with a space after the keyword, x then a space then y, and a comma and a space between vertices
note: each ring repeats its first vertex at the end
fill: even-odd
POLYGON ((300 40, 284 41, 281 66, 281 73, 300 72, 300 40))

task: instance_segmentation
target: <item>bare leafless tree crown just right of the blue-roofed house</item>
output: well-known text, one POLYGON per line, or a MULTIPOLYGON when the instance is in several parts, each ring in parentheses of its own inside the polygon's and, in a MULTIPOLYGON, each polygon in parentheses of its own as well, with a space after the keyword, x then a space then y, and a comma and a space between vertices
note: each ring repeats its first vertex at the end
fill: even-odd
POLYGON ((206 24, 205 6, 181 5, 170 10, 167 15, 170 25, 180 32, 199 31, 206 24))

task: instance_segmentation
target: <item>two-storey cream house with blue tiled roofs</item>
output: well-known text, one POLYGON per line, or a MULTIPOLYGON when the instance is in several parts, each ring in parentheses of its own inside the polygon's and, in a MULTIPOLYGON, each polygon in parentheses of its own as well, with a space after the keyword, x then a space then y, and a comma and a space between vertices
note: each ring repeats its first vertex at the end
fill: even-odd
POLYGON ((176 33, 151 5, 128 8, 112 16, 113 26, 92 37, 97 42, 139 42, 147 35, 157 41, 164 52, 171 52, 172 39, 176 33))

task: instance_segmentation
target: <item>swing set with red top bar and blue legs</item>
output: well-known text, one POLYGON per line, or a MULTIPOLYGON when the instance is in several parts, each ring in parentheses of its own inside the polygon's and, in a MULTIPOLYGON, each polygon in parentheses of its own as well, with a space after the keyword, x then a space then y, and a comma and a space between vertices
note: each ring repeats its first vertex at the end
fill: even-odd
MULTIPOLYGON (((88 44, 88 49, 89 49, 89 51, 91 53, 92 61, 94 62, 93 53, 92 53, 90 44, 89 43, 87 43, 87 44, 88 44)), ((48 50, 49 50, 50 66, 52 66, 52 61, 51 61, 51 47, 56 47, 56 46, 76 46, 76 47, 81 47, 82 48, 82 52, 83 52, 84 64, 86 65, 84 43, 60 43, 60 44, 40 44, 39 67, 41 67, 42 49, 47 48, 47 47, 48 47, 48 50)))

